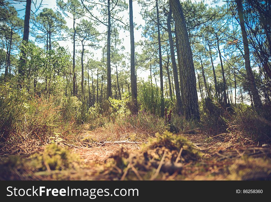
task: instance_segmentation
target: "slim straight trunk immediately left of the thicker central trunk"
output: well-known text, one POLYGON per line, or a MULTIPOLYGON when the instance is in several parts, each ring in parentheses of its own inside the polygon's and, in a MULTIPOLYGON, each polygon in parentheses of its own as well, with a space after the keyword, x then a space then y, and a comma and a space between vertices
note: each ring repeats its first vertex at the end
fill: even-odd
POLYGON ((112 96, 111 89, 111 55, 110 55, 110 37, 111 37, 111 13, 110 0, 107 0, 108 26, 107 26, 107 99, 112 96))

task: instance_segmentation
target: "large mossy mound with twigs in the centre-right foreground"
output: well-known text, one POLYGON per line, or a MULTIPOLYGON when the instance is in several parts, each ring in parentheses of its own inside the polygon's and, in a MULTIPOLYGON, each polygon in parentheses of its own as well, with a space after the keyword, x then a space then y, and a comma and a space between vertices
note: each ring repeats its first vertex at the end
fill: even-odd
POLYGON ((200 152, 186 138, 165 131, 163 134, 156 133, 156 138, 149 139, 148 144, 139 151, 124 152, 120 149, 112 156, 113 160, 105 170, 110 170, 113 179, 123 178, 123 175, 127 180, 150 180, 154 179, 153 176, 163 179, 174 172, 181 174, 182 163, 197 160, 200 156, 200 152), (160 163, 157 175, 155 172, 160 163))

